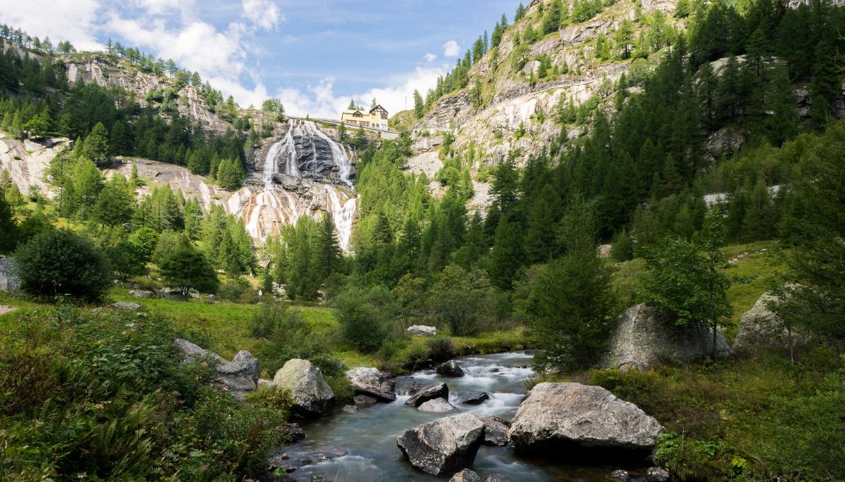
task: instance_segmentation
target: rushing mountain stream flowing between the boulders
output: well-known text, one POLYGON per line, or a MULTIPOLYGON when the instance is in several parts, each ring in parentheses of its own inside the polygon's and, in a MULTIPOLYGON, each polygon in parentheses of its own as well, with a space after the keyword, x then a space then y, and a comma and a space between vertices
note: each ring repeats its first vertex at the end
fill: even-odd
MULTIPOLYGON (((496 415, 512 419, 525 397, 525 381, 534 375, 530 368, 532 356, 526 353, 498 353, 462 357, 455 361, 466 372, 465 376, 442 378, 435 375, 434 370, 417 371, 413 375, 397 377, 396 392, 402 393, 414 384, 425 386, 445 381, 453 402, 455 392, 488 392, 491 395, 490 399, 480 405, 455 404, 461 412, 479 417, 496 415)), ((400 395, 393 403, 362 407, 351 414, 337 410, 330 417, 303 422, 301 425, 305 430, 305 439, 287 447, 287 452, 346 452, 346 455, 299 468, 292 476, 306 482, 312 475, 322 475, 335 482, 448 480, 448 477, 438 478, 412 468, 396 446, 396 437, 417 424, 455 413, 420 412, 405 405, 408 398, 407 395, 400 395)), ((616 468, 628 470, 631 480, 638 480, 635 475, 644 472, 642 467, 627 467, 616 461, 608 461, 608 465, 604 466, 580 466, 571 462, 564 464, 553 460, 527 459, 517 456, 509 447, 498 446, 482 446, 471 468, 482 478, 499 473, 511 482, 606 481, 607 475, 616 468)))

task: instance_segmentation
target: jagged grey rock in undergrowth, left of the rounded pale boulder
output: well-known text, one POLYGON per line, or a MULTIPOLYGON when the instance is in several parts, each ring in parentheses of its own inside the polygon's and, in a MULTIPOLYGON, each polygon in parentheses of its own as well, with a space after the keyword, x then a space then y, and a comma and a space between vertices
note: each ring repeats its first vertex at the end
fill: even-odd
POLYGON ((232 361, 227 361, 217 353, 200 348, 188 340, 177 338, 174 344, 181 353, 183 363, 208 361, 214 364, 219 385, 236 398, 243 399, 248 392, 258 388, 261 365, 252 353, 242 350, 232 361))

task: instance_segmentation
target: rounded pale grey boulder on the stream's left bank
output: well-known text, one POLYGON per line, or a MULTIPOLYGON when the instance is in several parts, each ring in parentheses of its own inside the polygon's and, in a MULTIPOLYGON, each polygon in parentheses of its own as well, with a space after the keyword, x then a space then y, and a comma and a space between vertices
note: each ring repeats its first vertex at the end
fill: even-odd
POLYGON ((302 417, 329 414, 335 407, 335 392, 323 380, 323 373, 308 360, 290 359, 275 372, 273 385, 291 391, 293 411, 302 417))

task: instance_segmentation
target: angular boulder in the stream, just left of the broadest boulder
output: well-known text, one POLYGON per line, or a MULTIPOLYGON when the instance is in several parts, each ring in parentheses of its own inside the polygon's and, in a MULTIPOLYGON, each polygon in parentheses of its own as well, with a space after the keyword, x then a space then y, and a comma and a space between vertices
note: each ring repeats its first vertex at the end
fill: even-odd
POLYGON ((414 468, 447 475, 472 465, 483 440, 484 422, 475 415, 460 414, 406 430, 396 445, 414 468))

